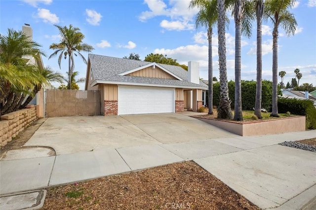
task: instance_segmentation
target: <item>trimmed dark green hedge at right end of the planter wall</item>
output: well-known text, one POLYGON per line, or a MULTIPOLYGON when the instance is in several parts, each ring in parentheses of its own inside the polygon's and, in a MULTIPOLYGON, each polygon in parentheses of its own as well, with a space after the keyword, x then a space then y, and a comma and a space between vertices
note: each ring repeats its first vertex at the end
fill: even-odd
POLYGON ((316 129, 316 108, 311 100, 278 98, 277 109, 279 113, 306 116, 306 129, 316 129))

